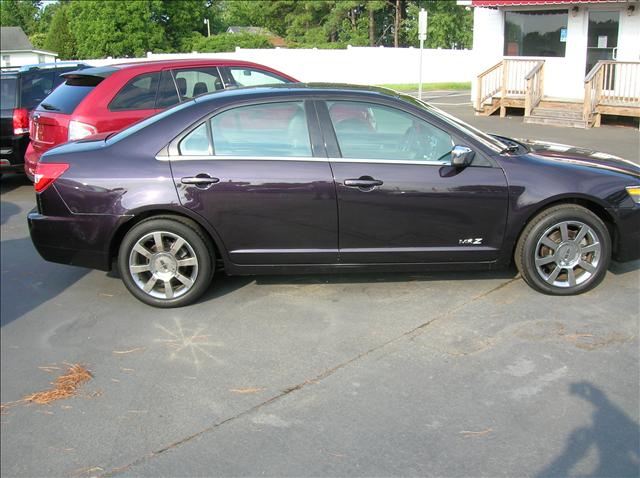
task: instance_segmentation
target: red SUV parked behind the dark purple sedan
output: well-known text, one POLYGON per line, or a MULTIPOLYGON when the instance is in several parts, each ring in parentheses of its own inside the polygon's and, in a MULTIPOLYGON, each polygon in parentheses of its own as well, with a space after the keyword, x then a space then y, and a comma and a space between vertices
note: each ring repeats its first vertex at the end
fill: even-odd
POLYGON ((33 180, 45 151, 67 141, 119 131, 196 96, 224 88, 291 83, 272 68, 246 61, 169 60, 88 68, 38 105, 32 117, 25 172, 33 180))

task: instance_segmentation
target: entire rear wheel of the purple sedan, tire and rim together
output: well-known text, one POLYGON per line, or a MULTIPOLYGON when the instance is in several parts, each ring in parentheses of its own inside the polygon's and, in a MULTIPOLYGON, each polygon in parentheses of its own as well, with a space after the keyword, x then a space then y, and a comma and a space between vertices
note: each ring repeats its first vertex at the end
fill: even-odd
POLYGON ((194 222, 176 216, 151 218, 125 235, 118 252, 120 276, 137 299, 154 307, 181 307, 209 287, 215 257, 194 222))

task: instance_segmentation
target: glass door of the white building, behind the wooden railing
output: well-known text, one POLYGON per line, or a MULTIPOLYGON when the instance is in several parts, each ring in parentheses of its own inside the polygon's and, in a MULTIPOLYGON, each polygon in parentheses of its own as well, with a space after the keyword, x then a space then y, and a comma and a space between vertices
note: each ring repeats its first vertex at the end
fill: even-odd
MULTIPOLYGON (((618 26, 620 24, 620 12, 589 12, 589 32, 587 39, 587 71, 600 60, 615 60, 618 49, 618 26)), ((605 85, 605 89, 613 89, 611 85, 605 85)))

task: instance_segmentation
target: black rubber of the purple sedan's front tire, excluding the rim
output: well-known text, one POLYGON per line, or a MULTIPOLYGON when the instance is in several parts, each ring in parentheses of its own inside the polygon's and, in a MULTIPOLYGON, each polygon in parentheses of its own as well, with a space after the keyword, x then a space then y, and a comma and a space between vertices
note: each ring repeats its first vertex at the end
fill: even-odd
POLYGON ((586 292, 597 286, 604 279, 609 262, 611 260, 611 238, 607 226, 595 214, 584 208, 566 207, 559 208, 547 217, 537 222, 528 232, 524 239, 524 247, 521 258, 522 266, 525 268, 521 271, 525 280, 529 285, 552 295, 575 295, 586 292), (595 231, 600 242, 600 261, 593 276, 584 284, 575 287, 556 287, 548 284, 540 275, 535 265, 535 251, 538 241, 550 227, 563 221, 580 221, 587 224, 595 231))

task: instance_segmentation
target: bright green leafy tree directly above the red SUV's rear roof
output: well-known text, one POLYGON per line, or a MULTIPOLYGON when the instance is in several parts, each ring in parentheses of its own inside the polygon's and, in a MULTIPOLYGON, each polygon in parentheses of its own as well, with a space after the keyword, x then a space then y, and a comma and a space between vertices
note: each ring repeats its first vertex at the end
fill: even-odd
POLYGON ((171 50, 157 21, 161 0, 69 2, 66 12, 79 58, 144 56, 171 50))

